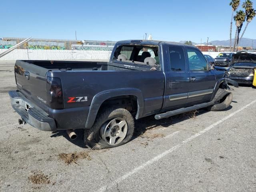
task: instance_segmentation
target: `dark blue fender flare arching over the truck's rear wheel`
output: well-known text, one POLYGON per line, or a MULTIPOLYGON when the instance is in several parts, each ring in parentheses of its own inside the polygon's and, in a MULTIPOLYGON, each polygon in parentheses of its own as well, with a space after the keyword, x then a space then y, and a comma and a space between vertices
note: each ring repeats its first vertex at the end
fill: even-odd
POLYGON ((100 106, 105 100, 112 97, 124 95, 132 95, 137 97, 138 110, 135 118, 140 118, 142 116, 144 108, 144 99, 141 90, 136 88, 119 88, 106 90, 99 92, 92 98, 92 103, 86 120, 85 128, 90 129, 93 126, 96 116, 98 114, 98 110, 100 109, 100 106))

